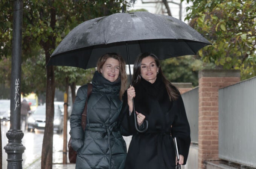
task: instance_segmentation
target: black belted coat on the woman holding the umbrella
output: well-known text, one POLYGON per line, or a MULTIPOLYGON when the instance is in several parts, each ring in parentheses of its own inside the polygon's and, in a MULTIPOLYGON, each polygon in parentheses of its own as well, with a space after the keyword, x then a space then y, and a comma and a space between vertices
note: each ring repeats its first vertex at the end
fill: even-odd
POLYGON ((146 116, 148 130, 139 134, 134 127, 134 113, 129 116, 127 93, 120 113, 122 134, 133 135, 126 157, 126 169, 174 169, 177 137, 178 150, 186 163, 190 146, 190 127, 183 100, 170 101, 165 84, 157 78, 155 83, 142 79, 134 86, 135 110, 146 116))

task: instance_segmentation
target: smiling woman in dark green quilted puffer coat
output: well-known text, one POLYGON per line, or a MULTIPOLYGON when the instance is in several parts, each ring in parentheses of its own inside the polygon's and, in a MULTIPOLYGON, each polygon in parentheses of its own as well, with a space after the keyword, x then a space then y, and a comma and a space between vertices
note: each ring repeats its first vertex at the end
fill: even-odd
POLYGON ((87 99, 87 84, 76 94, 70 116, 72 148, 77 151, 76 169, 123 169, 126 144, 118 117, 126 88, 125 62, 116 53, 104 54, 97 63, 88 98, 85 133, 81 115, 87 99))

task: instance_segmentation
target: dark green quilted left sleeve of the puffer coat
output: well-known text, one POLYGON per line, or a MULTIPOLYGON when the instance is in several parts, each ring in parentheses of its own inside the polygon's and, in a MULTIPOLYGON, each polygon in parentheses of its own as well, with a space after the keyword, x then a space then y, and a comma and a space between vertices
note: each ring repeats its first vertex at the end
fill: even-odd
POLYGON ((73 104, 70 115, 70 137, 72 138, 72 148, 77 151, 84 145, 84 131, 81 125, 82 113, 87 99, 87 85, 81 86, 73 104))

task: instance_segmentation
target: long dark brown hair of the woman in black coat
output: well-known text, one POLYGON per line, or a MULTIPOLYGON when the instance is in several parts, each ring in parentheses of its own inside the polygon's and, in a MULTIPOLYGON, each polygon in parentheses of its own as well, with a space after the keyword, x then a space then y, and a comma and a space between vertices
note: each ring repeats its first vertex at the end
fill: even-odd
POLYGON ((179 95, 180 92, 178 91, 178 89, 171 82, 169 82, 165 78, 165 76, 163 75, 161 66, 160 66, 160 60, 158 59, 157 56, 155 56, 152 53, 148 53, 148 52, 142 53, 136 58, 136 60, 134 62, 134 66, 133 66, 133 80, 132 80, 133 85, 135 86, 137 83, 140 82, 140 80, 142 78, 141 74, 140 74, 141 62, 142 62, 142 59, 144 59, 145 57, 148 57, 148 56, 154 58, 154 60, 155 60, 155 63, 158 67, 158 75, 157 76, 162 79, 163 83, 165 83, 165 87, 166 87, 166 90, 168 92, 170 101, 176 100, 178 98, 178 95, 179 95))

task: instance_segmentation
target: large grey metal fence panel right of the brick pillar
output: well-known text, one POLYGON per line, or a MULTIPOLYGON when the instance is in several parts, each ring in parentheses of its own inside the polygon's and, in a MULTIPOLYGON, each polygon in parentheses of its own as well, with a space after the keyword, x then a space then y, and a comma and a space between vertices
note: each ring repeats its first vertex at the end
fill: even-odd
POLYGON ((219 158, 256 167, 256 77, 219 89, 219 158))

